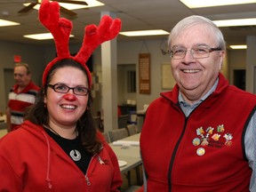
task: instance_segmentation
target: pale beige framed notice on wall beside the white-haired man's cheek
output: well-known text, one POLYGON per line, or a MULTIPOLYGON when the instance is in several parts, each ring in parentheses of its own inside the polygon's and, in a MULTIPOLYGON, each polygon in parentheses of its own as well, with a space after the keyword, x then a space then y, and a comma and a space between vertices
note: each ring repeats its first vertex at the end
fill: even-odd
POLYGON ((170 90, 175 85, 175 80, 172 76, 171 63, 162 64, 162 89, 170 90))

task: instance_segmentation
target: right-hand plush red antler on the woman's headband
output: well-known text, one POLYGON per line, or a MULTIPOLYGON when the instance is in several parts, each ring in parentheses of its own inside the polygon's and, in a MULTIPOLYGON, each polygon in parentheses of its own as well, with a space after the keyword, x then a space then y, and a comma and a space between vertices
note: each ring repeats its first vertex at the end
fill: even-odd
POLYGON ((121 20, 113 20, 108 15, 102 17, 99 27, 96 25, 86 26, 84 28, 84 41, 75 59, 80 63, 85 63, 100 44, 115 38, 120 29, 121 20))

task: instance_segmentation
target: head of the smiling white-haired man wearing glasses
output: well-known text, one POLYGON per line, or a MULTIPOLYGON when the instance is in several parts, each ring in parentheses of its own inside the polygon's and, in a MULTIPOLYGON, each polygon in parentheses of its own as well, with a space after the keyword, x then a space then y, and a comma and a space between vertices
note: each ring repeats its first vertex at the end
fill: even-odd
POLYGON ((226 44, 220 29, 201 16, 189 16, 169 36, 172 75, 189 103, 200 100, 216 82, 226 44))

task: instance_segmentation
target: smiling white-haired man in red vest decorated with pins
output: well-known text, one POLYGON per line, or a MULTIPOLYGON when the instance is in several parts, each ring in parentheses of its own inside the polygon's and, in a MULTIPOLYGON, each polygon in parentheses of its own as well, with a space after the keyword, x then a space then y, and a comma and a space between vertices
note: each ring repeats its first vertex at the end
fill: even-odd
POLYGON ((145 190, 256 191, 256 95, 220 73, 220 29, 189 16, 169 47, 176 84, 149 105, 140 136, 145 190))

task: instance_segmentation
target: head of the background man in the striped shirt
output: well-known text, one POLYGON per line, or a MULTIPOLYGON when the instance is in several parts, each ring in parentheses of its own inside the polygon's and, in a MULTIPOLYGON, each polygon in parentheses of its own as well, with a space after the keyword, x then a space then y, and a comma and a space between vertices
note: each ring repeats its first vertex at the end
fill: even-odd
POLYGON ((31 74, 27 63, 15 64, 13 77, 20 88, 25 88, 31 81, 31 74))

